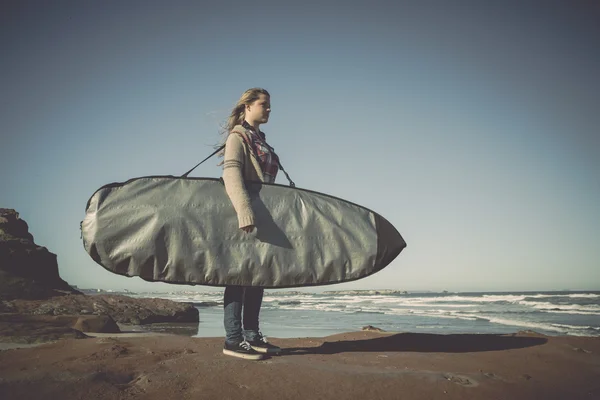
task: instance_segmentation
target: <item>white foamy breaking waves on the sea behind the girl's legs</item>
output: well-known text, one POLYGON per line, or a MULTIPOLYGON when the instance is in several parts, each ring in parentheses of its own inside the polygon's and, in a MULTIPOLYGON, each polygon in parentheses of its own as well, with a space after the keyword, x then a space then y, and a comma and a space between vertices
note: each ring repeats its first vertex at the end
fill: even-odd
MULTIPOLYGON (((158 297, 174 301, 208 303, 214 302, 222 307, 223 293, 153 293, 134 297, 158 297)), ((476 295, 322 295, 299 293, 293 295, 269 296, 263 299, 265 310, 296 310, 310 314, 314 312, 332 312, 339 315, 377 313, 378 320, 414 322, 416 327, 428 326, 421 318, 433 318, 457 322, 440 322, 449 329, 461 329, 465 324, 473 324, 479 329, 493 331, 498 324, 519 329, 533 329, 561 335, 600 336, 600 326, 596 325, 596 316, 600 315, 598 294, 482 294, 476 295), (579 301, 578 301, 579 300, 579 301), (553 304, 565 303, 565 304, 553 304), (541 314, 544 313, 544 314, 541 314), (542 321, 541 316, 548 315, 553 322, 542 321), (412 318, 412 319, 411 319, 412 318), (463 322, 459 322, 463 321, 463 322), (466 322, 465 322, 466 321, 466 322), (472 321, 472 322, 468 322, 472 321), (581 322, 581 325, 573 323, 581 322), (476 325, 475 325, 476 324, 476 325), (488 324, 487 328, 485 328, 488 324)), ((434 323, 435 325, 435 323, 434 323)))

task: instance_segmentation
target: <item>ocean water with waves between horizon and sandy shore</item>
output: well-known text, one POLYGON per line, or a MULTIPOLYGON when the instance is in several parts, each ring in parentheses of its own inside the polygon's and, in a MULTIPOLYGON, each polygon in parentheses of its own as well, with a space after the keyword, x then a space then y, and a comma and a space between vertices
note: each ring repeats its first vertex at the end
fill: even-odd
MULTIPOLYGON (((191 302, 200 312, 195 337, 223 331, 223 292, 127 293, 191 302)), ((155 324, 155 331, 180 331, 155 324)), ((323 337, 372 325, 389 332, 600 336, 600 291, 414 293, 265 291, 261 331, 272 337, 323 337)))

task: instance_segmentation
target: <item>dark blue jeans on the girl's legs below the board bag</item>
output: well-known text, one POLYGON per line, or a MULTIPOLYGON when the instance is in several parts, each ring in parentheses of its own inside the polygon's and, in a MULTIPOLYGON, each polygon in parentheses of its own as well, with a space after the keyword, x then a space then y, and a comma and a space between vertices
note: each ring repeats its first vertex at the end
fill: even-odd
POLYGON ((264 289, 259 287, 226 286, 224 299, 223 322, 225 340, 237 343, 254 340, 258 336, 258 314, 264 289), (242 310, 244 325, 242 330, 242 310))

